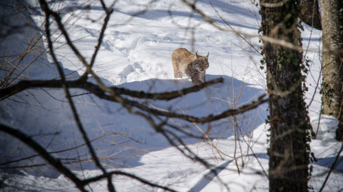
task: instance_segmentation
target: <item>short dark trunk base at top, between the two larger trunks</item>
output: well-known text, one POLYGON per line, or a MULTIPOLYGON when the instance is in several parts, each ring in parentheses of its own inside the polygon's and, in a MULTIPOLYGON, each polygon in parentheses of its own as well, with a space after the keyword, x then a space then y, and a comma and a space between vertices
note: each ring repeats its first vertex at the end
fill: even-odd
POLYGON ((300 19, 309 26, 322 29, 318 0, 301 0, 300 19))

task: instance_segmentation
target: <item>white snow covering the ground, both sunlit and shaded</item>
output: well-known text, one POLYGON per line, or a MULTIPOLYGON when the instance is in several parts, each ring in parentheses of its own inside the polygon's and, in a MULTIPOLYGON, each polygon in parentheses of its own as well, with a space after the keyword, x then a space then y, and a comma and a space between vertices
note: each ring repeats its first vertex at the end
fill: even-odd
MULTIPOLYGON (((258 8, 252 2, 211 2, 220 16, 238 31, 253 35, 258 33, 261 18, 258 8)), ((35 0, 28 3, 32 7, 37 6, 35 0)), ((106 5, 111 4, 112 1, 106 1, 106 5)), ((197 7, 211 16, 218 25, 226 27, 208 1, 198 1, 197 7)), ((60 11, 75 46, 89 61, 105 16, 101 4, 97 1, 54 1, 51 2, 51 8, 60 11), (84 5, 84 8, 78 8, 78 5, 84 5), (91 5, 91 8, 86 9, 86 5, 91 5)), ((32 23, 34 20, 38 27, 44 26, 44 15, 39 10, 32 10, 32 19, 21 14, 18 17, 18 20, 29 19, 32 23)), ((321 31, 307 25, 304 28, 303 46, 318 50, 321 31)), ((27 31, 32 29, 36 28, 25 28, 27 31)), ((84 66, 65 44, 56 24, 53 23, 51 29, 54 31, 56 54, 67 79, 80 77, 85 71, 84 66)), ((32 37, 33 34, 27 33, 12 34, 1 42, 1 54, 4 50, 6 53, 21 53, 27 46, 27 40, 32 37), (23 46, 16 46, 19 44, 23 46), (3 48, 4 45, 6 49, 3 48)), ((261 45, 257 38, 246 39, 257 48, 261 45)), ((210 66, 206 71, 206 81, 222 77, 224 83, 170 101, 145 100, 151 107, 202 117, 241 107, 265 93, 265 72, 259 68, 261 55, 234 33, 219 31, 206 23, 181 1, 117 1, 93 70, 108 86, 117 85, 148 92, 190 87, 192 84, 189 79, 174 78, 171 53, 178 47, 185 47, 193 53, 198 50, 200 55, 206 55, 209 51, 210 66)), ((309 91, 305 96, 311 125, 314 132, 318 132, 316 139, 310 143, 318 161, 311 163, 313 172, 309 184, 314 191, 318 191, 341 144, 334 140, 338 121, 333 117, 320 115, 320 94, 316 86, 320 83, 320 55, 309 51, 306 56, 313 62, 307 76, 309 91)), ((34 57, 35 55, 30 54, 25 57, 17 70, 27 66, 28 70, 23 73, 24 79, 58 77, 49 55, 41 55, 30 65, 30 59, 34 57)), ((0 75, 3 79, 4 72, 0 75)), ((93 79, 90 78, 90 81, 93 79)), ((73 96, 82 94, 73 97, 73 101, 88 136, 94 140, 92 144, 97 155, 109 171, 120 170, 135 174, 177 191, 268 191, 268 178, 264 175, 264 172, 268 172, 268 124, 265 124, 268 105, 264 104, 237 115, 235 120, 226 118, 211 124, 187 124, 178 119, 168 121, 174 126, 181 125, 185 131, 195 135, 208 131, 213 139, 202 141, 177 131, 175 133, 182 137, 192 152, 215 165, 215 175, 172 147, 143 118, 128 113, 117 103, 85 93, 83 90, 71 90, 73 96), (235 131, 240 135, 237 139, 235 131)), ((63 90, 29 90, 2 100, 0 106, 2 124, 19 128, 32 136, 49 152, 56 152, 56 158, 63 159, 64 162, 90 158, 88 150, 82 146, 84 141, 75 126, 63 90), (69 148, 75 149, 58 152, 69 148)), ((169 130, 174 131, 171 128, 169 130)), ((3 133, 0 135, 0 144, 5 146, 0 149, 0 163, 35 154, 20 141, 3 133)), ((45 161, 34 157, 29 161, 7 166, 40 163, 45 161)), ((102 174, 94 163, 88 161, 71 163, 68 166, 80 178, 102 174)), ((49 166, 15 169, 12 172, 7 170, 0 173, 0 178, 0 189, 4 191, 78 191, 71 181, 49 166)), ((117 191, 161 191, 126 176, 115 176, 113 183, 117 191)), ((324 191, 340 191, 343 188, 342 183, 341 155, 324 191)), ((91 183, 88 188, 104 191, 107 184, 102 180, 91 183)))

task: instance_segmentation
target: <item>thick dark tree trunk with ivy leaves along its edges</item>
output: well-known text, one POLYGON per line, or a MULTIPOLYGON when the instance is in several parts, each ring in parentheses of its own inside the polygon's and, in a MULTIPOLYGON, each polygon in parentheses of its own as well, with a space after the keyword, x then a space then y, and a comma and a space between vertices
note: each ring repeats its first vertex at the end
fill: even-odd
MULTIPOLYGON (((298 0, 261 0, 261 31, 301 46, 298 0), (277 6, 275 6, 277 5, 277 6)), ((270 191, 308 191, 309 118, 303 100, 302 52, 263 42, 270 94, 270 191)))

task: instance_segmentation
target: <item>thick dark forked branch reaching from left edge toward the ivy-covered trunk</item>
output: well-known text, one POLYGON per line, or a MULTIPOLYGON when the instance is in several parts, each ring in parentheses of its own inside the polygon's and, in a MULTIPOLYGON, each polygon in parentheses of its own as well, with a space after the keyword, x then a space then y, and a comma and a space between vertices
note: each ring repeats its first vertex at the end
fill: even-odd
MULTIPOLYGON (((218 80, 213 80, 213 81, 209 81, 206 83, 216 83, 216 81, 221 81, 221 79, 218 80)), ((163 115, 167 118, 179 118, 182 120, 187 120, 188 122, 198 122, 198 123, 206 123, 206 122, 212 122, 215 120, 220 120, 222 118, 226 118, 228 116, 233 116, 233 115, 237 115, 239 113, 244 113, 246 111, 249 111, 251 109, 255 109, 256 107, 258 107, 259 105, 261 105, 264 102, 268 101, 267 99, 263 99, 265 97, 265 94, 263 94, 262 96, 259 96, 258 100, 255 102, 250 103, 249 105, 244 105, 243 107, 239 108, 239 109, 228 109, 222 113, 220 113, 219 115, 209 115, 206 117, 202 117, 202 118, 197 118, 191 115, 184 115, 184 114, 180 114, 180 113, 171 113, 169 111, 158 111, 156 109, 152 109, 150 107, 147 107, 139 102, 136 102, 134 100, 129 100, 126 98, 121 98, 118 96, 118 94, 116 94, 116 96, 110 96, 108 94, 106 94, 102 89, 100 89, 97 85, 94 85, 93 83, 80 83, 80 81, 67 81, 66 82, 67 85, 69 87, 78 87, 78 88, 82 88, 84 90, 88 90, 89 92, 92 92, 93 94, 95 94, 96 96, 98 96, 99 98, 103 98, 106 100, 111 100, 114 102, 119 102, 122 105, 126 105, 126 106, 130 106, 130 107, 137 107, 143 111, 146 111, 148 113, 152 113, 154 115, 163 115), (118 100, 117 98, 120 98, 120 100, 118 100)), ((176 98, 179 96, 183 96, 185 94, 183 94, 184 92, 193 92, 193 90, 200 90, 200 87, 204 86, 204 85, 209 85, 203 83, 202 85, 198 85, 198 86, 194 86, 194 87, 190 87, 190 88, 186 88, 183 91, 176 91, 176 92, 169 92, 171 93, 170 97, 168 96, 168 92, 165 92, 161 95, 158 94, 147 94, 144 92, 134 92, 134 91, 128 91, 128 90, 121 90, 123 92, 126 92, 126 94, 130 94, 130 96, 134 96, 134 97, 140 97, 140 98, 154 98, 154 99, 164 99, 164 100, 169 100, 171 98, 176 98), (135 95, 137 94, 137 95, 135 95), (175 97, 174 97, 175 96, 175 97)), ((21 83, 17 83, 16 85, 13 85, 11 87, 5 88, 3 90, 1 90, 0 92, 0 98, 5 98, 8 95, 12 95, 15 94, 17 92, 20 92, 22 90, 25 90, 27 87, 62 87, 62 82, 60 80, 51 80, 51 81, 21 81, 21 83)), ((116 92, 116 89, 114 88, 114 92, 116 92)), ((120 91, 118 91, 120 93, 120 91)), ((121 92, 121 94, 123 94, 123 92, 121 92)))

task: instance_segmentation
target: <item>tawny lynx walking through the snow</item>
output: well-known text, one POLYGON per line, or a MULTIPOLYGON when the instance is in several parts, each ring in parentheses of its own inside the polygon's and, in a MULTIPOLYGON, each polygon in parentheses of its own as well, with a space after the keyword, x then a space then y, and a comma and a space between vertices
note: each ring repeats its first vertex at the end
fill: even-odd
POLYGON ((193 85, 205 82, 205 72, 209 68, 209 53, 206 56, 192 54, 185 48, 175 49, 173 61, 174 77, 191 77, 193 85))

